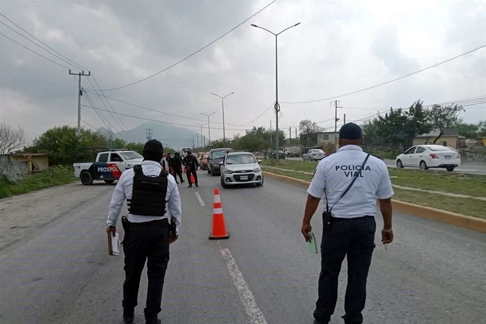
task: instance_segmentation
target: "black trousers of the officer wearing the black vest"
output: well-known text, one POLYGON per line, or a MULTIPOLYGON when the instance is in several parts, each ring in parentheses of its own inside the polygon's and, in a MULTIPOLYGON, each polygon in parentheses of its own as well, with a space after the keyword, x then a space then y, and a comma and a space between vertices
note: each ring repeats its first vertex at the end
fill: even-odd
POLYGON ((123 241, 125 282, 124 313, 133 313, 137 306, 140 276, 147 261, 148 291, 145 318, 157 318, 169 262, 169 222, 167 219, 130 223, 123 241))

